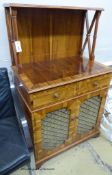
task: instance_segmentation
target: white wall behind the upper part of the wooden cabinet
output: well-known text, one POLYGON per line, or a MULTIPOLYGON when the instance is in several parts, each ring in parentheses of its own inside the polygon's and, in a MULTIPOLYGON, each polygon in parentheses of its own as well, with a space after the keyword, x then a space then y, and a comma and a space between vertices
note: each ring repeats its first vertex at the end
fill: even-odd
POLYGON ((103 7, 100 18, 96 45, 96 60, 102 63, 112 64, 112 1, 111 0, 0 0, 0 67, 10 70, 11 58, 8 45, 8 37, 5 22, 4 3, 34 3, 49 5, 69 5, 85 7, 103 7))

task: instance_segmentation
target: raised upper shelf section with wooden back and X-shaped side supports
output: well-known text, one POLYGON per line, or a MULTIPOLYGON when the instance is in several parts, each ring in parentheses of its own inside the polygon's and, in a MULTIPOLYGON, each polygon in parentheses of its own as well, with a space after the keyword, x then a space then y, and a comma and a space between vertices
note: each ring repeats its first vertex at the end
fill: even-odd
POLYGON ((89 59, 94 60, 102 10, 24 4, 5 6, 12 64, 18 67, 40 60, 83 56, 87 44, 89 59), (95 11, 90 25, 88 10, 95 11), (84 36, 85 29, 87 34, 84 36), (17 41, 22 48, 19 51, 17 41))

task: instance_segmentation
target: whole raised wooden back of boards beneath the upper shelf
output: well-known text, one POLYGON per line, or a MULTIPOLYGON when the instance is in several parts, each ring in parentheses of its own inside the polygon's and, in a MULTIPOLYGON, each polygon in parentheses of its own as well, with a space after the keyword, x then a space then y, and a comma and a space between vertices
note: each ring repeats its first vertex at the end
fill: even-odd
POLYGON ((85 11, 17 9, 20 64, 80 54, 85 11))

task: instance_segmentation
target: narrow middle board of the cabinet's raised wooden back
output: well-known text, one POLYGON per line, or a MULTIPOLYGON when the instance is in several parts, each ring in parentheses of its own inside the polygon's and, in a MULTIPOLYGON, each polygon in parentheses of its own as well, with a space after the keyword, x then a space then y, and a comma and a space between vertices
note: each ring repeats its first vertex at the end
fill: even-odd
POLYGON ((33 61, 48 60, 50 55, 50 20, 47 9, 32 11, 32 54, 33 61))

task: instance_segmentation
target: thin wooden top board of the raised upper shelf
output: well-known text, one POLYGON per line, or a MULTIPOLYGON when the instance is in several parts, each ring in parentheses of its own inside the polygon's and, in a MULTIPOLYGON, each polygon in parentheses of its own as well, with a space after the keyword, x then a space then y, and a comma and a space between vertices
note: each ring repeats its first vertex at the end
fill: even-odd
POLYGON ((8 3, 4 4, 4 7, 24 7, 24 8, 48 8, 48 9, 68 9, 68 10, 98 10, 103 11, 103 8, 98 7, 75 7, 75 6, 56 6, 56 5, 38 5, 38 4, 18 4, 18 3, 8 3))

